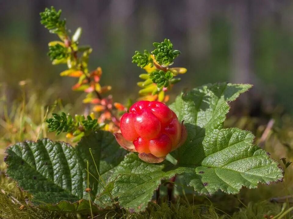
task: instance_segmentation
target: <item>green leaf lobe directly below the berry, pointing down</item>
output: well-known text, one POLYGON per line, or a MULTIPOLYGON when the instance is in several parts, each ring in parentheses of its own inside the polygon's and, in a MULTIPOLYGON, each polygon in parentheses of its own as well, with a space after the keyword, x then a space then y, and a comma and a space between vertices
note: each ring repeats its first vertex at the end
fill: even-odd
POLYGON ((144 210, 161 180, 183 173, 185 169, 168 169, 168 166, 169 162, 150 164, 140 160, 136 153, 129 153, 115 170, 120 175, 110 184, 112 195, 118 197, 123 207, 144 210))

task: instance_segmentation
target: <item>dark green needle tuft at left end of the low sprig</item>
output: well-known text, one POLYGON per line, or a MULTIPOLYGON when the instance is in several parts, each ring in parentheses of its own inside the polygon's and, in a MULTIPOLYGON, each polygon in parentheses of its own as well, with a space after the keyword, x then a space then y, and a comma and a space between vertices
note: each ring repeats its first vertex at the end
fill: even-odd
POLYGON ((71 115, 66 115, 64 112, 61 115, 52 113, 53 118, 47 119, 49 132, 55 132, 56 135, 61 132, 72 132, 75 128, 71 115))

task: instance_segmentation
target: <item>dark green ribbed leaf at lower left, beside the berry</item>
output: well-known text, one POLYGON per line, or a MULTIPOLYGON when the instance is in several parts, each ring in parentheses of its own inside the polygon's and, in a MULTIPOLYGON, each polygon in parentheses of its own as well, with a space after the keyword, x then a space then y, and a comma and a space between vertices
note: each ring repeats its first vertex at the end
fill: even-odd
POLYGON ((126 151, 110 132, 98 131, 83 137, 75 148, 65 142, 42 139, 17 143, 6 153, 7 175, 33 195, 33 203, 40 204, 88 200, 86 161, 92 174, 91 199, 95 200, 105 187, 101 183, 107 183, 105 176, 111 176, 111 169, 119 165, 126 151))

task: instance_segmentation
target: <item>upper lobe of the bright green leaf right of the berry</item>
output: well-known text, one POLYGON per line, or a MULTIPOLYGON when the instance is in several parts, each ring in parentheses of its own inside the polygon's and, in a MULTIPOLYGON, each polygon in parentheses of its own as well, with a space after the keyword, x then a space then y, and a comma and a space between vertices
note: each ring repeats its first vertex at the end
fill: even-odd
MULTIPOLYGON (((179 120, 197 126, 197 129, 221 128, 230 109, 227 102, 235 100, 250 88, 251 85, 248 84, 208 84, 183 92, 170 108, 179 120)), ((199 133, 193 130, 193 134, 199 133)))

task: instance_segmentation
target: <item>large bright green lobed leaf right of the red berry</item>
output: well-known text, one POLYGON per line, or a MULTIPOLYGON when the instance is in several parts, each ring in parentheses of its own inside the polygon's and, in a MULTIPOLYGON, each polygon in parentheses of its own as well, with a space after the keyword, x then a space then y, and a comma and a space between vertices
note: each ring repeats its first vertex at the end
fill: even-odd
POLYGON ((257 187, 283 178, 278 163, 253 144, 254 135, 238 128, 223 129, 235 100, 251 85, 219 83, 182 93, 170 107, 185 120, 188 138, 174 151, 179 166, 189 167, 184 178, 199 193, 218 190, 238 193, 242 186, 257 187))

